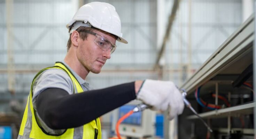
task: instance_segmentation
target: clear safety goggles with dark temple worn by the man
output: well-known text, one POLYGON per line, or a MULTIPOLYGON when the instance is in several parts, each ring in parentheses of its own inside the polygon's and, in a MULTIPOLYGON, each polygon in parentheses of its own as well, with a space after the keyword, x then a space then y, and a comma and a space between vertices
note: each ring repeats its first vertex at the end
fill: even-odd
POLYGON ((79 31, 79 32, 86 32, 86 33, 90 33, 92 35, 95 35, 96 38, 94 39, 94 43, 101 49, 104 51, 108 51, 110 49, 110 54, 112 54, 115 50, 116 50, 116 44, 113 44, 109 39, 107 39, 106 37, 91 32, 91 31, 79 31))

